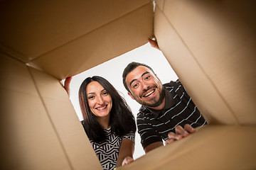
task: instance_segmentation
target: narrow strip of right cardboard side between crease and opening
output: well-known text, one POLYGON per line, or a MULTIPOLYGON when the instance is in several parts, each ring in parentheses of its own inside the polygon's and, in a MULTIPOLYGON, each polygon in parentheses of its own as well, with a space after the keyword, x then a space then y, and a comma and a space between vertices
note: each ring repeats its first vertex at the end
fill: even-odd
POLYGON ((238 124, 215 86, 157 6, 154 31, 159 47, 207 122, 238 124))

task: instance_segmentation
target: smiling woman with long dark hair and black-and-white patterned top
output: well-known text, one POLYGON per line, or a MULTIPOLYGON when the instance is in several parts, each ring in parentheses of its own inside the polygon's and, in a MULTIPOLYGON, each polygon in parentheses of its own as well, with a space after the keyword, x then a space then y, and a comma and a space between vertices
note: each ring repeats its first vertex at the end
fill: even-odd
POLYGON ((88 77, 79 89, 83 128, 103 169, 133 161, 134 116, 124 98, 102 77, 88 77))

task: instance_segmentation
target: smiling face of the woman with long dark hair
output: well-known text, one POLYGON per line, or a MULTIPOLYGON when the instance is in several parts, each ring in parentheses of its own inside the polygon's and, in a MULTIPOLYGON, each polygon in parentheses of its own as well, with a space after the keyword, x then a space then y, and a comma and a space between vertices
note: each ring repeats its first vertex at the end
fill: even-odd
POLYGON ((87 85, 86 91, 90 111, 92 111, 97 118, 110 116, 112 98, 102 85, 97 81, 92 81, 87 85))

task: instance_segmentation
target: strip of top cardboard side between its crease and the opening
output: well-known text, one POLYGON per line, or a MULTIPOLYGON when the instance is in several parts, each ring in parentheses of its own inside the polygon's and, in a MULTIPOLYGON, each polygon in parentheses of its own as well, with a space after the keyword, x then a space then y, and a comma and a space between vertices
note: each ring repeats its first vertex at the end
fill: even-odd
POLYGON ((31 62, 64 79, 143 45, 152 28, 153 7, 147 4, 31 62))

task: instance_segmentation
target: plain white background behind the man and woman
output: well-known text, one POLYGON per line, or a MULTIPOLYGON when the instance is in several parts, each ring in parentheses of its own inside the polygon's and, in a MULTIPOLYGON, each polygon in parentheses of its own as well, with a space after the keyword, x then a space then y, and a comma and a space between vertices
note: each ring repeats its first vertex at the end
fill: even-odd
MULTIPOLYGON (((127 52, 119 57, 115 57, 110 61, 102 63, 97 67, 93 67, 92 69, 88 69, 87 71, 73 77, 70 83, 70 100, 73 103, 75 111, 80 120, 82 120, 82 113, 80 111, 78 101, 78 90, 80 88, 80 84, 82 84, 82 81, 87 77, 92 76, 101 76, 110 81, 114 88, 119 91, 119 94, 127 101, 128 105, 132 109, 134 117, 136 118, 140 107, 139 103, 132 100, 132 98, 128 96, 127 90, 124 89, 124 85, 122 84, 122 72, 130 62, 142 62, 149 65, 152 69, 154 69, 154 72, 157 74, 163 84, 171 80, 175 81, 178 79, 161 51, 156 50, 155 48, 151 47, 149 43, 147 43, 142 47, 127 52)), ((137 159, 138 157, 142 157, 142 155, 144 155, 144 150, 140 144, 139 134, 136 133, 135 136, 134 159, 137 159)))

